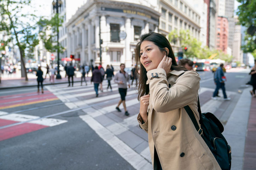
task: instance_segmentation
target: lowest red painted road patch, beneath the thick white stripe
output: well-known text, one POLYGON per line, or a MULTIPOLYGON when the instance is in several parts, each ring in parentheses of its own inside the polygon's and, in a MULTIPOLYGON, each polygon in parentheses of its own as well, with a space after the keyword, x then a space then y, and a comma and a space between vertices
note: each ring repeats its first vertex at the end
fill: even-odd
POLYGON ((0 141, 10 139, 10 138, 13 138, 16 136, 21 136, 23 134, 37 131, 37 130, 40 130, 40 129, 46 128, 46 127, 48 127, 48 126, 24 123, 24 124, 0 129, 0 141))

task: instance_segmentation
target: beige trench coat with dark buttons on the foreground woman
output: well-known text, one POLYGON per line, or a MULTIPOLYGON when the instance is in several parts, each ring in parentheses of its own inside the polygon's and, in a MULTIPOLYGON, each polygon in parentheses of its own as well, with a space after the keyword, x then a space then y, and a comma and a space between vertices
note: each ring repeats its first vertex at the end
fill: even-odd
POLYGON ((167 76, 164 69, 147 72, 150 88, 148 117, 142 124, 139 114, 138 121, 148 133, 152 165, 155 145, 163 170, 220 169, 184 109, 188 105, 199 124, 197 97, 200 77, 196 71, 184 72, 173 70, 167 76))

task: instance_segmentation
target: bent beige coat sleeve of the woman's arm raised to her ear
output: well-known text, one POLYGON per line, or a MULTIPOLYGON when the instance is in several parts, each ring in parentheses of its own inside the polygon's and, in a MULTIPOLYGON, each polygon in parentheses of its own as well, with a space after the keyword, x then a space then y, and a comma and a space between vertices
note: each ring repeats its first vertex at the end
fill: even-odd
POLYGON ((199 90, 200 77, 195 71, 186 71, 171 88, 164 69, 150 70, 147 77, 156 112, 165 113, 192 104, 199 90))

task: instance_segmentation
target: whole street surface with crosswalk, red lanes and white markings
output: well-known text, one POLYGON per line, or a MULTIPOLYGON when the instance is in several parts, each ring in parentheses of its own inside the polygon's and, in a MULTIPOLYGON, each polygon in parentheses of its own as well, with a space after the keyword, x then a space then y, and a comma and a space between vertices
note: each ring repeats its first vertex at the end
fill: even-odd
MULTIPOLYGON (((226 73, 231 100, 214 101, 213 73, 198 73, 202 112, 214 113, 225 125, 239 92, 249 93, 249 74, 226 73)), ((147 134, 136 120, 136 89, 127 92, 127 117, 122 105, 122 112, 115 109, 120 100, 117 84, 112 81, 110 92, 104 80, 104 92, 96 98, 93 84, 87 83, 44 86, 43 94, 37 87, 0 90, 0 169, 152 169, 147 134)))

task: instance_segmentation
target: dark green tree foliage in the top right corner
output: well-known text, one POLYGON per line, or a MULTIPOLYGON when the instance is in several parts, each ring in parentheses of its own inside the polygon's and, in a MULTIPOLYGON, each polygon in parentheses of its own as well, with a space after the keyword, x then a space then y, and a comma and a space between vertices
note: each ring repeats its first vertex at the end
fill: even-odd
POLYGON ((242 46, 244 52, 253 52, 256 49, 256 0, 237 0, 239 24, 247 27, 245 40, 247 45, 242 46))

